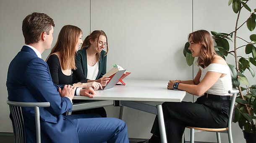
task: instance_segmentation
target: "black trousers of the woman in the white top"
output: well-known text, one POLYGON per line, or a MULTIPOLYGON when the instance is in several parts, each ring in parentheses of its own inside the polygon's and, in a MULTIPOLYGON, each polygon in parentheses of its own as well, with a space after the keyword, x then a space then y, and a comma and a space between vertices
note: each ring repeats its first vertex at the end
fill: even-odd
MULTIPOLYGON (((192 102, 165 102, 162 110, 168 143, 181 143, 185 126, 201 128, 227 127, 230 100, 213 100, 201 96, 192 102)), ((160 136, 157 116, 151 133, 160 136)))

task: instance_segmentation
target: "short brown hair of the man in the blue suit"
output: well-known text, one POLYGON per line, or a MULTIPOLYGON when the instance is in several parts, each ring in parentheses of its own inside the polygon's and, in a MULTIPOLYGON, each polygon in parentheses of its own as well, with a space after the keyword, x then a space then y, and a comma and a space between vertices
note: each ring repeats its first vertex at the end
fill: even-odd
POLYGON ((46 32, 50 34, 50 30, 55 24, 53 19, 44 13, 32 13, 26 16, 22 22, 22 32, 25 38, 25 44, 37 43, 40 35, 46 32))

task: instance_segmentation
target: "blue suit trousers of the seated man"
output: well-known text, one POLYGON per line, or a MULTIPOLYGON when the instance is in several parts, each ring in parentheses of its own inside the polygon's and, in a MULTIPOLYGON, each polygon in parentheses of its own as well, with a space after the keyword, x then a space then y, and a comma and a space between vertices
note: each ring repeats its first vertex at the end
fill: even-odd
POLYGON ((66 115, 76 126, 79 143, 129 143, 127 126, 117 118, 97 114, 66 115))

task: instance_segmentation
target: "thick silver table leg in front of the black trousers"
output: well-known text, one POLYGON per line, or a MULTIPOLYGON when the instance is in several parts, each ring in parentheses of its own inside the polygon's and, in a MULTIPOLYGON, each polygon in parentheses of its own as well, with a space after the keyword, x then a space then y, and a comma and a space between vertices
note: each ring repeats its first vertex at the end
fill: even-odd
POLYGON ((164 120, 164 114, 163 114, 161 104, 157 105, 157 118, 158 118, 161 142, 167 143, 166 132, 165 132, 165 120, 164 120))

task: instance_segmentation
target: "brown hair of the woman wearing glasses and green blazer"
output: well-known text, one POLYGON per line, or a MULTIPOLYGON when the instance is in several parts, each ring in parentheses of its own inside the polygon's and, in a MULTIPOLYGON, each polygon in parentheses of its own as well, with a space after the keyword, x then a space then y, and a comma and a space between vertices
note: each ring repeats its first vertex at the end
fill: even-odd
MULTIPOLYGON (((105 36, 106 39, 107 39, 107 35, 106 35, 106 33, 104 33, 104 31, 102 31, 102 30, 94 30, 91 34, 89 34, 84 39, 83 45, 81 46, 81 49, 83 49, 83 48, 88 49, 91 46, 90 40, 96 40, 98 38, 98 52, 96 53, 97 57, 98 57, 98 60, 100 58, 100 50, 99 50, 99 36, 100 35, 105 36)), ((108 52, 108 44, 107 44, 107 52, 108 52)), ((106 55, 107 55, 107 53, 106 53, 106 55)), ((106 56, 106 55, 104 55, 104 56, 106 56)))

